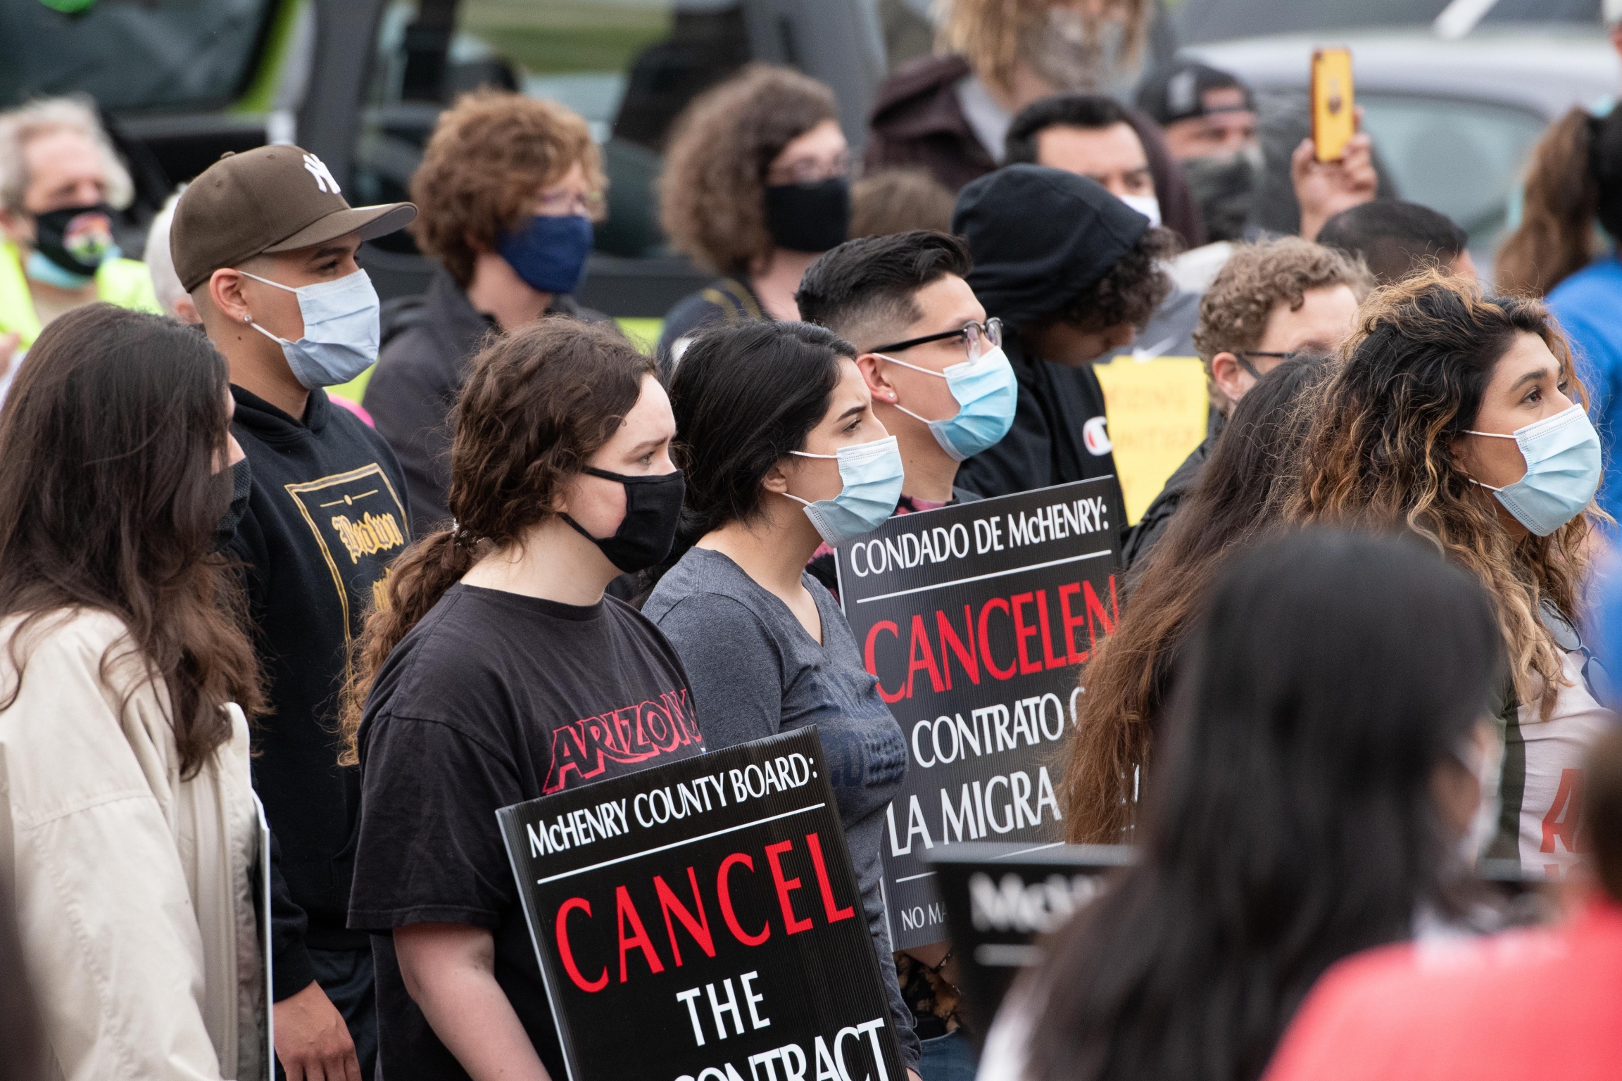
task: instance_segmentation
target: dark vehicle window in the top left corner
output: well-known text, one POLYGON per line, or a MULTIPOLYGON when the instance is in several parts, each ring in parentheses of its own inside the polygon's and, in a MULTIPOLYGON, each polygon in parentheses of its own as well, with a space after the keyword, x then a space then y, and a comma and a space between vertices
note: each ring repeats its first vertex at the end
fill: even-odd
POLYGON ((217 109, 243 94, 274 0, 102 0, 68 16, 0 5, 0 102, 91 94, 112 112, 217 109), (24 47, 26 45, 26 47, 24 47))

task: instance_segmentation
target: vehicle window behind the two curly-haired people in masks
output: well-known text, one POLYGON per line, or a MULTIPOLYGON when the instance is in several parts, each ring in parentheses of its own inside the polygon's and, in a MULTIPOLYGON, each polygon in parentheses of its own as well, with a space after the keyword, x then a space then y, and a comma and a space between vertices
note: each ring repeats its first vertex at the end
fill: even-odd
MULTIPOLYGON (((663 251, 654 182, 676 113, 748 62, 738 0, 462 0, 443 75, 423 63, 428 3, 393 3, 355 156, 365 203, 406 198, 440 110, 464 91, 501 86, 563 102, 603 147, 608 217, 597 250, 663 251), (423 78, 423 71, 430 76, 423 78)), ((410 250, 407 233, 381 246, 410 250)))

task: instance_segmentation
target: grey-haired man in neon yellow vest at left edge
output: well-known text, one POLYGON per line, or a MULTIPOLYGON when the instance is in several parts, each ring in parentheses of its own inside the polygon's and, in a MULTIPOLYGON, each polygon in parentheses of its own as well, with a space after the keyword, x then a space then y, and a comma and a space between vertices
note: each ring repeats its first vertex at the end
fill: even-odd
POLYGON ((0 112, 0 395, 42 327, 81 305, 159 311, 112 235, 135 185, 96 109, 44 97, 0 112))

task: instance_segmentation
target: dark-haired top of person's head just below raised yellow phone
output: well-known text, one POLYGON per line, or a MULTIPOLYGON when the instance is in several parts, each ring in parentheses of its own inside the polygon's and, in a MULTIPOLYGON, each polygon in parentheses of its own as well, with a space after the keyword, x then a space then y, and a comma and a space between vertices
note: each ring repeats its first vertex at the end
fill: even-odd
POLYGON ((1341 211, 1324 222, 1317 241, 1362 259, 1375 285, 1400 282, 1431 266, 1476 277, 1476 263, 1466 248, 1470 233, 1447 214, 1418 203, 1375 199, 1341 211))

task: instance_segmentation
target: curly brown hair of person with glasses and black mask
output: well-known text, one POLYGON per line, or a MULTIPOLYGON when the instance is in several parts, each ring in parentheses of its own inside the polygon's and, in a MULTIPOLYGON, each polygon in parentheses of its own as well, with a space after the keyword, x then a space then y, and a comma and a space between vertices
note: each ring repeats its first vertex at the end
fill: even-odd
POLYGON ((783 147, 834 120, 834 91, 788 68, 751 63, 676 117, 659 180, 672 241, 720 274, 743 274, 772 250, 766 170, 783 147))

